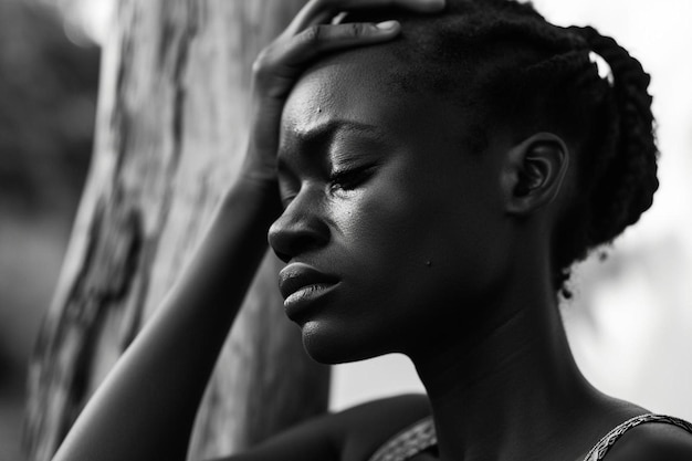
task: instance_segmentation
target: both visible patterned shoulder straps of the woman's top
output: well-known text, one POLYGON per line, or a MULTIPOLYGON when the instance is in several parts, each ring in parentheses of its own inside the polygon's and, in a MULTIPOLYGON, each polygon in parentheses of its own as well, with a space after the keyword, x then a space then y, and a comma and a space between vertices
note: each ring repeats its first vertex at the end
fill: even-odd
MULTIPOLYGON (((602 460, 610 447, 629 429, 647 422, 659 422, 678 426, 692 433, 692 425, 679 418, 663 415, 641 415, 622 422, 608 432, 588 452, 584 461, 602 460)), ((406 461, 416 454, 434 447, 438 443, 432 418, 424 418, 413 426, 402 430, 370 457, 369 461, 406 461)))

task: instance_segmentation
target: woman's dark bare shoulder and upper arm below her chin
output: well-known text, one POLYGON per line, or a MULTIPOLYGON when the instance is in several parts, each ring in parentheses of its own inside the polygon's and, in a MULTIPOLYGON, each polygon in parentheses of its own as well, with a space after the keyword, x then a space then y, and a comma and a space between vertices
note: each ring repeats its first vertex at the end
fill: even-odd
POLYGON ((217 461, 365 461, 395 433, 428 415, 422 395, 375 400, 311 419, 217 461))

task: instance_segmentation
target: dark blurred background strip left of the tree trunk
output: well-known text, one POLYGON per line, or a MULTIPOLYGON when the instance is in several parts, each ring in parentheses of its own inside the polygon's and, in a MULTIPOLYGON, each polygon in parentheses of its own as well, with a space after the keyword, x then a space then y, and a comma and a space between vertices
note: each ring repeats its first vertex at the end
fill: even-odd
POLYGON ((99 51, 75 25, 76 17, 62 14, 63 7, 70 8, 0 0, 2 461, 22 459, 27 363, 60 272, 92 149, 99 51))

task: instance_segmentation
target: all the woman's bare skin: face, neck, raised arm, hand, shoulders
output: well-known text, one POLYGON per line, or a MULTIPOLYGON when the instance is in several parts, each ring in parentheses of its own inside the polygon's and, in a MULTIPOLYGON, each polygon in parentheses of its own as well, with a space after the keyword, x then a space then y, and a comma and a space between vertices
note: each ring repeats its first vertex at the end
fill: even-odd
MULTIPOLYGON (((276 217, 269 241, 287 263, 281 290, 307 352, 325 363, 402 352, 428 396, 325 415, 228 460, 366 461, 430 412, 442 461, 580 460, 646 411, 584 379, 557 311, 549 242, 575 190, 574 149, 553 133, 517 142, 511 124, 497 124, 489 147, 470 155, 472 113, 391 85, 389 72, 406 63, 381 43, 398 23, 328 24, 343 9, 391 2, 312 0, 259 56, 241 179, 54 460, 186 458, 276 217), (319 60, 360 45, 370 46, 319 60)), ((686 434, 636 430, 609 461, 692 458, 686 434)))

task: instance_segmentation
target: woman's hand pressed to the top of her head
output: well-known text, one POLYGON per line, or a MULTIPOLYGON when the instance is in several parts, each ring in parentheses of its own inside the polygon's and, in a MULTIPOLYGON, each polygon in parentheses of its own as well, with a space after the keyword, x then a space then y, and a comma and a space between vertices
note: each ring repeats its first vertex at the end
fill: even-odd
POLYGON ((244 177, 275 181, 275 158, 284 102, 307 64, 329 52, 385 42, 399 34, 396 21, 334 23, 348 10, 401 7, 437 12, 444 0, 311 0, 253 65, 252 117, 244 177))

